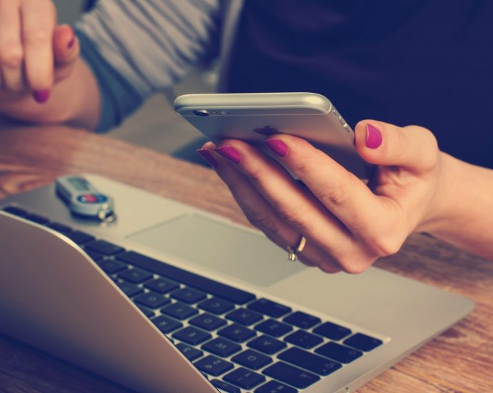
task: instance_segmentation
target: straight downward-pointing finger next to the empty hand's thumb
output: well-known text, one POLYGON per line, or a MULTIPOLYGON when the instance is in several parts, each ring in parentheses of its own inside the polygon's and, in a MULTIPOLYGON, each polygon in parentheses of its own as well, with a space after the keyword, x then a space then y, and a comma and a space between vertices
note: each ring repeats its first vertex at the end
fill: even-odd
POLYGON ((49 90, 54 84, 54 4, 48 0, 26 0, 21 16, 26 80, 34 91, 49 90))

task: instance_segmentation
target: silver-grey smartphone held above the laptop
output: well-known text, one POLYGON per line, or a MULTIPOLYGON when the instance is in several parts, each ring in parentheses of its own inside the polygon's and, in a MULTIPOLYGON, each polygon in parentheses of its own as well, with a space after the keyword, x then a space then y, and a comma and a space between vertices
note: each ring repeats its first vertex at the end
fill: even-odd
POLYGON ((272 134, 307 139, 360 179, 372 166, 354 147, 354 131, 327 97, 314 93, 186 94, 175 111, 218 142, 241 139, 272 155, 262 143, 272 134))

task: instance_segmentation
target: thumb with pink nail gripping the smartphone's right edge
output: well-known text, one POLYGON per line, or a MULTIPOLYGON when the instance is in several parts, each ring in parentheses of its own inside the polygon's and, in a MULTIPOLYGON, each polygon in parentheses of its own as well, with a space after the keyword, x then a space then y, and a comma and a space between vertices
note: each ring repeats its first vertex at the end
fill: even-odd
POLYGON ((437 164, 437 139, 423 127, 364 120, 355 133, 359 155, 371 164, 402 166, 414 172, 428 171, 437 164))

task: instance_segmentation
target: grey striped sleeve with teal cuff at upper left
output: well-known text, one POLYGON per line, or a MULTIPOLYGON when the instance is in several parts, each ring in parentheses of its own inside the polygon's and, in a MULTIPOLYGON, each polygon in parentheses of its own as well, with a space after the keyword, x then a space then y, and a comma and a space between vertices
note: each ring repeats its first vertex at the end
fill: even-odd
POLYGON ((119 74, 111 83, 99 83, 100 89, 114 89, 113 94, 101 91, 106 113, 101 114, 104 121, 99 129, 118 123, 149 95, 179 81, 204 59, 217 45, 219 1, 99 0, 82 17, 76 29, 85 37, 83 56, 98 55, 84 56, 96 79, 101 81, 100 70, 119 74), (118 81, 138 95, 131 104, 121 97, 121 86, 115 86, 118 81), (108 97, 113 97, 112 102, 108 97))

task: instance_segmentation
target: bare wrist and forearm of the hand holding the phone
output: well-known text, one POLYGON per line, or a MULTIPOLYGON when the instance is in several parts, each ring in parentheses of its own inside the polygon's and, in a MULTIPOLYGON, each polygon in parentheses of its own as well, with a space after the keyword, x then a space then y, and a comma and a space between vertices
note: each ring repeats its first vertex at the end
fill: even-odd
POLYGON ((444 179, 435 237, 493 260, 493 170, 442 153, 444 179))

